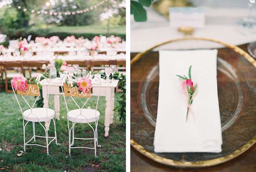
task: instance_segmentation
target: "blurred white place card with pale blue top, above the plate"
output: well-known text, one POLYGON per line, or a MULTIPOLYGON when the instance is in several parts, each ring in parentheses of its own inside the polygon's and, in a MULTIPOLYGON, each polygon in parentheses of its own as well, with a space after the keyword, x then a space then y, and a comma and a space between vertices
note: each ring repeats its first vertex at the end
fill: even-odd
POLYGON ((172 28, 203 28, 205 26, 204 9, 197 7, 171 7, 169 9, 169 23, 172 28))

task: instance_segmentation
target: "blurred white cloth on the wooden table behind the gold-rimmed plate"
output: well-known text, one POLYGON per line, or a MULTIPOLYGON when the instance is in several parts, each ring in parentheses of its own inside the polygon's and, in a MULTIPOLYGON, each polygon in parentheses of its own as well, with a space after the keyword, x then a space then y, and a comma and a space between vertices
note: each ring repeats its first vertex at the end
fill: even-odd
MULTIPOLYGON (((197 2, 197 1, 196 1, 197 2)), ((220 3, 220 1, 218 1, 220 3)), ((195 3, 195 5, 200 3, 195 3)), ((217 4, 217 3, 210 3, 217 4)), ((228 4, 228 3, 224 3, 228 4)), ((206 27, 195 29, 193 36, 212 38, 233 45, 241 45, 256 41, 256 30, 243 30, 239 21, 248 13, 247 1, 230 1, 230 7, 222 5, 215 7, 202 7, 206 13, 206 27), (236 3, 236 4, 234 4, 236 3), (233 4, 233 5, 232 5, 233 4), (241 7, 239 4, 242 4, 241 7)), ((204 4, 204 5, 209 5, 204 4)), ((182 38, 184 35, 177 29, 170 28, 169 21, 153 8, 147 8, 146 22, 135 22, 131 16, 131 52, 141 52, 148 48, 174 38, 182 38)), ((220 44, 211 42, 197 42, 196 44, 176 42, 161 49, 198 49, 198 48, 221 48, 220 44)))

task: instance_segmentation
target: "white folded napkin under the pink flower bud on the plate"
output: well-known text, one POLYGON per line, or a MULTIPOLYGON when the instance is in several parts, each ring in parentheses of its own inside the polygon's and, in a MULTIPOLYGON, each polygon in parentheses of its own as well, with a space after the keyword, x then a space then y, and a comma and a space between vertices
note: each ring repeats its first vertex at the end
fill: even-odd
POLYGON ((159 51, 159 95, 155 152, 221 152, 222 134, 217 93, 217 50, 159 51), (191 113, 176 75, 197 83, 191 113))

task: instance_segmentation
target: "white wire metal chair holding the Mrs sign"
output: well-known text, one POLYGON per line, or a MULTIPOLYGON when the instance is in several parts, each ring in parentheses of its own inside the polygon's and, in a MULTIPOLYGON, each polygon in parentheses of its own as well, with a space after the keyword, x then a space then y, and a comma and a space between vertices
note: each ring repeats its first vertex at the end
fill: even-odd
POLYGON ((65 77, 63 77, 61 79, 61 83, 63 83, 61 85, 61 89, 62 89, 62 92, 63 92, 63 97, 64 97, 64 102, 65 102, 65 105, 66 105, 66 108, 67 108, 67 119, 68 119, 68 138, 69 138, 69 141, 68 141, 68 153, 69 153, 69 156, 71 156, 71 149, 72 148, 86 148, 86 149, 94 149, 94 154, 95 154, 95 157, 96 156, 96 147, 101 147, 100 145, 98 145, 98 130, 97 130, 97 126, 98 126, 98 120, 99 120, 99 111, 97 111, 97 107, 98 107, 98 102, 99 102, 99 94, 100 94, 100 89, 101 89, 101 80, 100 78, 98 78, 97 76, 95 75, 91 75, 91 74, 88 74, 87 76, 89 77, 94 77, 94 78, 97 78, 98 80, 98 83, 99 83, 99 91, 98 91, 98 95, 97 95, 97 103, 96 103, 96 107, 95 109, 86 109, 84 108, 84 106, 86 105, 86 103, 89 101, 90 97, 89 98, 84 98, 86 99, 86 101, 84 102, 83 106, 80 107, 78 105, 78 103, 75 101, 75 99, 73 98, 73 96, 70 96, 71 99, 74 101, 74 103, 76 104, 76 106, 78 106, 78 109, 74 109, 74 110, 68 110, 68 105, 67 105, 67 101, 66 101, 66 96, 64 95, 64 88, 63 88, 63 79, 67 79, 69 78, 70 80, 72 80, 73 78, 78 81, 78 79, 74 76, 69 76, 69 75, 66 75, 65 77), (72 122, 72 126, 71 128, 69 127, 69 121, 72 122), (95 129, 93 128, 93 126, 90 124, 91 122, 95 122, 95 129), (87 123, 91 129, 93 130, 93 133, 94 133, 94 138, 77 138, 75 137, 75 124, 76 123, 87 123), (72 130, 72 143, 71 143, 71 130, 72 130), (94 148, 90 148, 90 147, 83 147, 83 146, 80 146, 80 147, 72 147, 74 145, 74 140, 75 139, 79 139, 79 140, 94 140, 94 148))

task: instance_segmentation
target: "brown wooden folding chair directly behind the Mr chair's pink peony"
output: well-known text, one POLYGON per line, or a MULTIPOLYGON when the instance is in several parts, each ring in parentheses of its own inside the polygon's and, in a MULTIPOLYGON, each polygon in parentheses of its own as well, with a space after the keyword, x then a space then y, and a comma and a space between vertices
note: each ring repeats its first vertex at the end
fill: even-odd
POLYGON ((8 89, 8 80, 11 80, 13 77, 16 77, 19 74, 23 74, 23 63, 22 62, 4 62, 3 66, 4 66, 4 74, 5 74, 5 92, 11 93, 12 90, 8 89))

